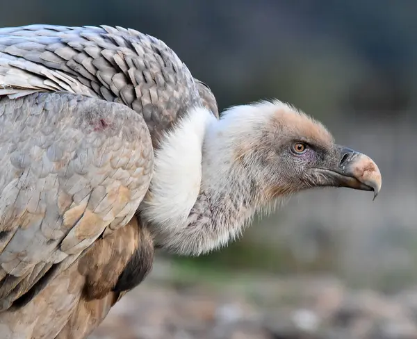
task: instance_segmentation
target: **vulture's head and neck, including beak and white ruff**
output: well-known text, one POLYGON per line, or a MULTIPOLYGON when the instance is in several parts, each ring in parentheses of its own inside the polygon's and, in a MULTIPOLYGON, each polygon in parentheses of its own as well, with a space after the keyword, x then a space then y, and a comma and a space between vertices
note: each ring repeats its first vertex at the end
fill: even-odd
POLYGON ((281 101, 235 106, 220 119, 197 107, 156 150, 139 214, 158 247, 199 255, 296 192, 345 187, 375 197, 381 183, 372 159, 336 144, 320 122, 281 101))

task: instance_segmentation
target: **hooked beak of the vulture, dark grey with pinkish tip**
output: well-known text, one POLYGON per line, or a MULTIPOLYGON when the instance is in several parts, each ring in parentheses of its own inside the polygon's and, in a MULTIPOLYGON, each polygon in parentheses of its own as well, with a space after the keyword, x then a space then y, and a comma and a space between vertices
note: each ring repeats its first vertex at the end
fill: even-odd
POLYGON ((319 185, 353 188, 374 192, 381 190, 382 176, 377 164, 365 154, 336 145, 337 163, 327 168, 316 168, 320 174, 319 185))

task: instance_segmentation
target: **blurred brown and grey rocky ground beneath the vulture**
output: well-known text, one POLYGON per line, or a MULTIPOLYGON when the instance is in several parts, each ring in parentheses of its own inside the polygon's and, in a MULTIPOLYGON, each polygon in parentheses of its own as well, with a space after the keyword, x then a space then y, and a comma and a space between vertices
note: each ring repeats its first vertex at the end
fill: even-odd
POLYGON ((417 286, 391 295, 314 276, 190 272, 158 260, 90 339, 411 339, 417 286))

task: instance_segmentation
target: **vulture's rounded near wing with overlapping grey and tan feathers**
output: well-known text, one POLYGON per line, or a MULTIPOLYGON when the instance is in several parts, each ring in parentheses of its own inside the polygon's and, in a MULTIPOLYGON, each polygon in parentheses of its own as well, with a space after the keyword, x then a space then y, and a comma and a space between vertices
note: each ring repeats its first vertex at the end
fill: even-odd
POLYGON ((140 115, 76 94, 4 98, 0 129, 4 310, 131 220, 152 176, 153 150, 140 115))

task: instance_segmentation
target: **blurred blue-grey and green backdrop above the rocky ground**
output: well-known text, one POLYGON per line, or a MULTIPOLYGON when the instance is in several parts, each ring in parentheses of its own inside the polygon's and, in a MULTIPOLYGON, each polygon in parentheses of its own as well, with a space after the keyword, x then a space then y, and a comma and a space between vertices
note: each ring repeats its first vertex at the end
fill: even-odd
POLYGON ((227 249, 168 256, 179 272, 331 273, 382 290, 417 282, 417 1, 1 4, 1 26, 106 24, 154 35, 211 87, 220 110, 289 101, 378 163, 384 181, 375 201, 343 189, 303 193, 227 249))

